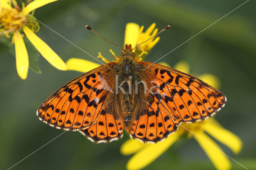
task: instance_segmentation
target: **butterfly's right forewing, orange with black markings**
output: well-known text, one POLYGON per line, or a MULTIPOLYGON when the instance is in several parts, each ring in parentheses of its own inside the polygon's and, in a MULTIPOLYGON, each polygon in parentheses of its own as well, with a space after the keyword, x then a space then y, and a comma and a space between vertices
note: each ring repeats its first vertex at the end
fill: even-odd
POLYGON ((162 65, 152 67, 154 80, 160 84, 156 98, 168 106, 169 112, 175 110, 183 122, 204 120, 226 104, 220 91, 200 79, 162 65))

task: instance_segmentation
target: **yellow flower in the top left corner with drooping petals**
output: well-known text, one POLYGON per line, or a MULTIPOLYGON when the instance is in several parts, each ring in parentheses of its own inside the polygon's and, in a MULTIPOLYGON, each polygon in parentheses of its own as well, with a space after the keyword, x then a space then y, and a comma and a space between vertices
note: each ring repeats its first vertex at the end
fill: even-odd
POLYGON ((9 34, 13 33, 12 43, 15 45, 16 68, 22 79, 27 78, 29 61, 23 35, 19 32, 21 29, 23 29, 28 40, 50 64, 60 70, 67 69, 64 61, 34 34, 39 30, 39 25, 36 18, 29 14, 36 8, 54 1, 56 0, 35 0, 27 6, 22 3, 21 10, 15 0, 0 0, 0 35, 10 38, 9 34))

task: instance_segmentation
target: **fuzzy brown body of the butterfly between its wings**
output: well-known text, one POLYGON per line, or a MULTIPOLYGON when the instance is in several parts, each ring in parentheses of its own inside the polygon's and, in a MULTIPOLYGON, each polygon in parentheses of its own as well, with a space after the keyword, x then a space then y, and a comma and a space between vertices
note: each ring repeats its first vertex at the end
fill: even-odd
POLYGON ((126 130, 130 130, 131 123, 146 109, 147 103, 141 102, 147 100, 148 93, 144 91, 148 88, 143 82, 150 82, 146 78, 144 66, 135 58, 131 45, 126 45, 125 51, 121 53, 120 59, 114 62, 112 75, 115 77, 115 83, 112 88, 115 93, 109 94, 114 105, 108 105, 109 113, 113 113, 116 119, 124 122, 126 130))

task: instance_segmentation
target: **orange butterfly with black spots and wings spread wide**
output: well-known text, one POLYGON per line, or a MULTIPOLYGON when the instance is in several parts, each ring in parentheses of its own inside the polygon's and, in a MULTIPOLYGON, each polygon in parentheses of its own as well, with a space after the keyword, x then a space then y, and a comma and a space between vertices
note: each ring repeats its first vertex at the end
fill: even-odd
POLYGON ((131 45, 122 50, 118 61, 60 87, 37 110, 39 119, 55 128, 79 131, 95 143, 118 140, 124 129, 133 139, 156 143, 182 122, 207 119, 226 104, 220 91, 200 79, 139 61, 131 45))

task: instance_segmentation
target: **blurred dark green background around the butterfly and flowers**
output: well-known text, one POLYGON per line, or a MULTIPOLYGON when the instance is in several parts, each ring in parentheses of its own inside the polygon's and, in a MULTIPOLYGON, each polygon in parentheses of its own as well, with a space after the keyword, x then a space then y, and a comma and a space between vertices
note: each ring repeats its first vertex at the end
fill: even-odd
MULTIPOLYGON (((85 25, 122 46, 128 22, 145 28, 155 22, 159 29, 170 24, 171 29, 160 34, 160 42, 146 58, 154 62, 243 2, 60 0, 37 9, 34 16, 94 57, 100 51, 109 60, 114 59, 109 49, 118 55, 120 49, 88 31, 85 25)), ((171 66, 185 60, 192 73, 212 73, 220 78, 220 90, 228 102, 215 118, 237 134, 244 146, 240 154, 234 155, 218 144, 249 169, 256 169, 255 6, 256 2, 250 0, 160 60, 171 66)), ((36 34, 65 62, 78 57, 99 63, 42 24, 36 34)), ((20 79, 15 57, 6 45, 0 44, 0 169, 10 168, 63 132, 39 121, 36 109, 56 89, 81 73, 59 71, 42 56, 39 68, 42 74, 29 70, 28 78, 20 79)), ((13 169, 125 169, 131 156, 122 156, 119 150, 128 138, 124 132, 118 141, 94 144, 79 132, 66 132, 13 169)), ((230 161, 233 169, 242 169, 230 161)), ((145 169, 214 169, 214 166, 194 139, 186 139, 176 142, 145 169)))

